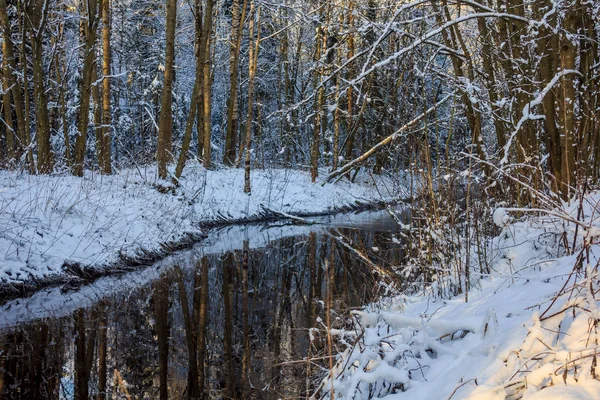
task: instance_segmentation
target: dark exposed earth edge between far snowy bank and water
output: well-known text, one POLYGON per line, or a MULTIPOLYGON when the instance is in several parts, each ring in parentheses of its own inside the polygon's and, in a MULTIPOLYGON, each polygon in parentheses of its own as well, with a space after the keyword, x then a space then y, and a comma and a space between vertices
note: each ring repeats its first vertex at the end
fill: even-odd
POLYGON ((135 256, 126 256, 123 253, 119 253, 117 260, 105 265, 87 265, 64 260, 60 268, 61 272, 55 275, 44 277, 42 279, 29 279, 18 284, 1 282, 0 304, 4 304, 7 301, 17 298, 28 297, 39 290, 50 287, 69 285, 69 288, 75 289, 79 286, 93 283, 102 277, 117 276, 148 268, 166 257, 190 249, 201 243, 208 237, 207 231, 210 231, 211 229, 276 221, 297 223, 294 218, 322 217, 349 212, 378 211, 406 202, 406 199, 400 198, 388 200, 377 199, 372 201, 356 200, 353 204, 345 204, 320 212, 297 212, 287 214, 265 208, 259 213, 244 218, 230 219, 223 216, 213 220, 200 221, 197 225, 201 233, 184 232, 180 239, 176 241, 161 242, 155 249, 149 250, 139 248, 137 249, 135 256))

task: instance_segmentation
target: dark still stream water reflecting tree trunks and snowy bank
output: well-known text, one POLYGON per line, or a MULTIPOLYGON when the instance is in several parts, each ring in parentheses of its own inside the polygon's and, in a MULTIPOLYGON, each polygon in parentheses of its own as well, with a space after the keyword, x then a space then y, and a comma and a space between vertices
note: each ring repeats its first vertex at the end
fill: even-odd
POLYGON ((214 231, 144 271, 4 304, 0 399, 305 398, 328 314, 342 328, 381 294, 336 237, 382 267, 402 257, 384 212, 320 222, 214 231))

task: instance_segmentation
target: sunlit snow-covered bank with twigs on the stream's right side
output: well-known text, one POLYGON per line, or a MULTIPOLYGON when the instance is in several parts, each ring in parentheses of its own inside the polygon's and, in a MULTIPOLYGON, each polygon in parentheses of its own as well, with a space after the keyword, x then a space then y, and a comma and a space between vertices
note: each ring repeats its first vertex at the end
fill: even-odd
POLYGON ((488 246, 492 270, 474 280, 468 301, 429 288, 372 304, 355 312, 354 329, 334 331, 343 352, 321 394, 600 398, 600 193, 511 223, 514 214, 495 212, 502 233, 488 246))

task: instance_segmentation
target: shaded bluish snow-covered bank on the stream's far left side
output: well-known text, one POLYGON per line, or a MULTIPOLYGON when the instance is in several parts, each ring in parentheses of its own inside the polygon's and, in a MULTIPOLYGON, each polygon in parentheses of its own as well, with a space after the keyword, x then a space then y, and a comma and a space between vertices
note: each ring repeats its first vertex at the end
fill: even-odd
MULTIPOLYGON (((263 206, 291 214, 324 213, 401 196, 390 184, 312 184, 306 172, 185 170, 180 187, 162 193, 156 168, 83 178, 0 172, 0 286, 49 281, 65 261, 105 267, 200 233, 202 223, 259 217, 263 206), (158 184, 158 185, 157 185, 158 184), (383 192, 382 192, 383 191, 383 192)), ((365 180, 366 181, 366 180, 365 180)))

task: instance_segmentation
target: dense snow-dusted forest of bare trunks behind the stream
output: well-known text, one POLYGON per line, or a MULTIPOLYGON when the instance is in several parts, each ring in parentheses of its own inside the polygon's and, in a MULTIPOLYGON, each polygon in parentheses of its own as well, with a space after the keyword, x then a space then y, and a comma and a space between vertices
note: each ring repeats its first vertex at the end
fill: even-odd
POLYGON ((541 201, 518 181, 568 199, 599 169, 597 17, 593 1, 4 1, 3 167, 331 180, 466 163, 495 196, 541 201))

